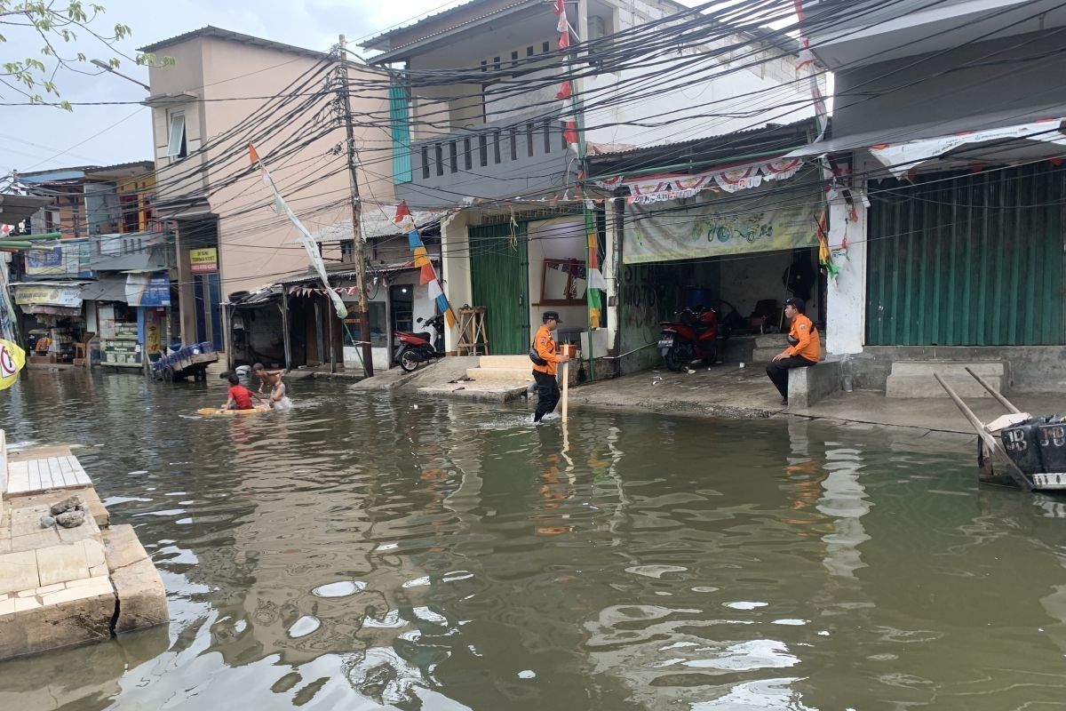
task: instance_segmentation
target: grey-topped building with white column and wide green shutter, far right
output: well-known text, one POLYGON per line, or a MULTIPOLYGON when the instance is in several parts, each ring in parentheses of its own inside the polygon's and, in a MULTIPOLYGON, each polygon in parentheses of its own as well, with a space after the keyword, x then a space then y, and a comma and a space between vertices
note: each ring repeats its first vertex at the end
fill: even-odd
POLYGON ((803 5, 835 76, 829 136, 794 153, 837 174, 829 353, 890 394, 908 360, 992 361, 1004 386, 1066 389, 1050 367, 1066 343, 1066 87, 1053 79, 1066 9, 803 5))

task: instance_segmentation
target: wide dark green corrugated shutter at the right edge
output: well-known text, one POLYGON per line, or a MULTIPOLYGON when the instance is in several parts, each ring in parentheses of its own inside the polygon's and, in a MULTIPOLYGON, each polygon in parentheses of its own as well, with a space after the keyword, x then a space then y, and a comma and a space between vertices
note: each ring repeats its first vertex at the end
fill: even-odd
POLYGON ((1055 345, 1066 168, 872 185, 869 345, 1055 345))

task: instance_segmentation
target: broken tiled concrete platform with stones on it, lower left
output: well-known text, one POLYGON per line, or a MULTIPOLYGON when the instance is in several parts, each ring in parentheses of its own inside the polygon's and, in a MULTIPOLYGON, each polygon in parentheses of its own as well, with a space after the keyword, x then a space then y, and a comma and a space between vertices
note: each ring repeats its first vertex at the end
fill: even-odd
POLYGON ((110 527, 68 448, 9 453, 0 432, 0 659, 169 621, 162 581, 130 527, 110 527), (84 522, 42 517, 77 495, 84 522))

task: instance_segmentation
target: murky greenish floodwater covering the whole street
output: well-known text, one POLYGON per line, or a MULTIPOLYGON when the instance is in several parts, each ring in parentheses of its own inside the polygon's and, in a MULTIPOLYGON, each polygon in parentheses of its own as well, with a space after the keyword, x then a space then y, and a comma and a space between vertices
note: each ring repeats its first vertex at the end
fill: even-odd
POLYGON ((1066 505, 958 440, 31 372, 169 629, 0 663, 0 708, 1061 708, 1066 505), (942 445, 942 446, 941 446, 942 445))

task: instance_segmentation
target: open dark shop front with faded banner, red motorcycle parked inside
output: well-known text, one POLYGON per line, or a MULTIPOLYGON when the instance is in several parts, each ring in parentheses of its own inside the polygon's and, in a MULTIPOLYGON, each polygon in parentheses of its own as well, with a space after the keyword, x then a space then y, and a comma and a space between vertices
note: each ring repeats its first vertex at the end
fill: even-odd
POLYGON ((729 345, 742 360, 765 355, 755 351, 755 336, 787 330, 788 297, 803 298, 824 332, 817 188, 807 172, 772 184, 684 197, 667 192, 665 199, 627 205, 617 303, 618 348, 628 355, 620 372, 659 365, 659 352, 646 346, 662 321, 677 320, 687 307, 715 309, 720 333, 740 339, 729 345))

